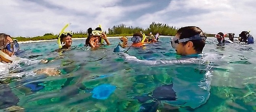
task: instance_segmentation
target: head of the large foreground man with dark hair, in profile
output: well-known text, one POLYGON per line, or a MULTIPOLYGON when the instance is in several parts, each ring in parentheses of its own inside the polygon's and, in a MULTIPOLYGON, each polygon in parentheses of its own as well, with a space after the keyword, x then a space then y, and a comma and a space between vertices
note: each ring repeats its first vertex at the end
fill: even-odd
POLYGON ((171 43, 177 54, 187 56, 202 53, 206 38, 199 27, 186 26, 177 31, 171 43))

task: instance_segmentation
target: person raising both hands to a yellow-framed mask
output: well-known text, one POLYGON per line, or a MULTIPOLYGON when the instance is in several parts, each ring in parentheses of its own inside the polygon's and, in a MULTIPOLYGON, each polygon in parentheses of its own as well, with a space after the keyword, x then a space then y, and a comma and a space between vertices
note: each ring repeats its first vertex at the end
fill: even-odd
POLYGON ((85 46, 98 48, 99 46, 104 45, 103 41, 105 41, 107 45, 110 45, 107 35, 104 32, 102 32, 100 27, 97 27, 95 30, 92 30, 92 28, 89 28, 87 32, 88 32, 88 37, 86 38, 85 46))

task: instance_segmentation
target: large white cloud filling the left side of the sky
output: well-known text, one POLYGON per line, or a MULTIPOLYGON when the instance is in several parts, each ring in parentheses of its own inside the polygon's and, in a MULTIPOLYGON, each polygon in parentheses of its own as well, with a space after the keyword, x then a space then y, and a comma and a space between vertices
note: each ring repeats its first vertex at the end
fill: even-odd
POLYGON ((103 30, 120 23, 126 13, 141 10, 151 4, 134 6, 117 6, 120 0, 8 0, 3 2, 0 11, 0 28, 11 36, 32 37, 53 32, 57 34, 66 24, 71 23, 67 30, 86 31, 99 24, 103 30), (48 6, 47 6, 48 5, 48 6))

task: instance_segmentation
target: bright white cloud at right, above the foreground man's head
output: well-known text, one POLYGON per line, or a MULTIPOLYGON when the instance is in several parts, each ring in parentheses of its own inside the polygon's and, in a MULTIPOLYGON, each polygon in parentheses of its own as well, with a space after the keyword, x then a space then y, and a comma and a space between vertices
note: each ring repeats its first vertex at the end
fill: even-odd
POLYGON ((164 10, 144 14, 136 22, 143 27, 152 21, 177 27, 199 26, 207 33, 235 32, 236 36, 242 30, 251 30, 251 34, 256 35, 255 5, 254 0, 173 0, 164 10), (201 13, 185 16, 181 13, 195 13, 192 12, 195 10, 201 13))

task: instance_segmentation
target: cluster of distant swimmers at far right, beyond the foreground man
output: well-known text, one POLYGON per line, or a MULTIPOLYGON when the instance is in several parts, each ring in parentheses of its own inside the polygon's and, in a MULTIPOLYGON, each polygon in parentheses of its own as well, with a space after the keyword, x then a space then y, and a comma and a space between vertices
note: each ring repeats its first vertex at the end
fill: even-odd
POLYGON ((249 34, 250 32, 248 31, 242 31, 239 34, 238 40, 234 40, 234 33, 228 33, 225 34, 223 32, 219 32, 215 38, 217 38, 219 43, 247 43, 247 44, 251 44, 254 43, 254 38, 253 35, 249 34), (228 35, 228 39, 225 40, 225 36, 228 35))

